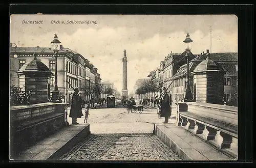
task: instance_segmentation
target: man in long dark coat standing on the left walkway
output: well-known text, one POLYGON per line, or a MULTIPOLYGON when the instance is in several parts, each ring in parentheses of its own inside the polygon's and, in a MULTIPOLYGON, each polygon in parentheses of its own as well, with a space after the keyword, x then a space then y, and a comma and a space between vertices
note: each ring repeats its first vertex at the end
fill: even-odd
POLYGON ((77 118, 81 118, 82 115, 82 99, 78 94, 79 90, 78 88, 75 88, 75 92, 72 96, 72 103, 70 108, 70 114, 69 117, 72 118, 72 124, 78 124, 76 122, 77 118))

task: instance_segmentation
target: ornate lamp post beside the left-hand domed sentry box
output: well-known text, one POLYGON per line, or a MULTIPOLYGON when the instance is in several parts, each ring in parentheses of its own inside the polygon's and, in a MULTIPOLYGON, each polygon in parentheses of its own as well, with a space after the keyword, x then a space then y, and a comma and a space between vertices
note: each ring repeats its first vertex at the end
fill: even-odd
POLYGON ((54 52, 54 58, 55 58, 55 85, 54 85, 54 91, 52 91, 52 97, 50 99, 50 102, 61 102, 61 99, 59 97, 59 91, 58 91, 58 75, 57 75, 57 58, 58 58, 58 52, 59 52, 59 44, 60 41, 58 40, 57 34, 54 35, 54 40, 51 41, 52 43, 52 49, 54 52))

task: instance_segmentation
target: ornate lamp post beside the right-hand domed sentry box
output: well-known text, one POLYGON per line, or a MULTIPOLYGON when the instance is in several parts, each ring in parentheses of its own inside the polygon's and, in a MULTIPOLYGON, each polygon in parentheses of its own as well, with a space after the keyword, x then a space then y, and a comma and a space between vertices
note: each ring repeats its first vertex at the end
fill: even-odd
POLYGON ((189 34, 187 33, 186 35, 186 39, 183 41, 184 43, 187 44, 187 48, 186 50, 186 60, 187 60, 187 74, 186 74, 186 88, 185 88, 185 95, 184 95, 184 101, 191 101, 191 90, 190 90, 190 86, 189 86, 189 65, 188 65, 188 57, 189 57, 189 53, 190 53, 190 43, 193 42, 193 40, 190 39, 189 34))

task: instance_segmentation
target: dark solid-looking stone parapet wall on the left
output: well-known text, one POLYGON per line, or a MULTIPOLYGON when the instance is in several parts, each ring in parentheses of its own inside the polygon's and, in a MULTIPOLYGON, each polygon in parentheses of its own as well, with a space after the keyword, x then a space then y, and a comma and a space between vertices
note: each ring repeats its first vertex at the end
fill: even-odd
POLYGON ((67 103, 49 102, 10 107, 11 155, 68 125, 67 107, 67 103))

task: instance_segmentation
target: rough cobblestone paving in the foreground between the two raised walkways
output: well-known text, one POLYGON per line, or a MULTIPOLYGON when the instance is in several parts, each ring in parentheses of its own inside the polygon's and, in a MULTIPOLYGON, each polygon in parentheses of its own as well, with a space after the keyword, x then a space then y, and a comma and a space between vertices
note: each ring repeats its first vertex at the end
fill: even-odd
POLYGON ((91 134, 58 160, 182 160, 152 133, 91 134))

